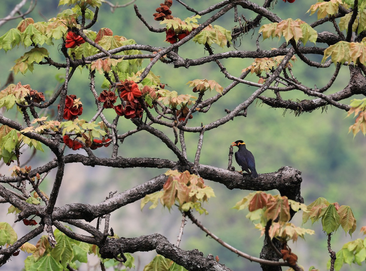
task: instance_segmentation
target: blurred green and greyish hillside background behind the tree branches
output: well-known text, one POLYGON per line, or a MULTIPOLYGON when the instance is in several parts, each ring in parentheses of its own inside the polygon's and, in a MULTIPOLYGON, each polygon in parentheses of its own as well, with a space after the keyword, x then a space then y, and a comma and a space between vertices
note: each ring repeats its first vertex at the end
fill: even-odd
MULTIPOLYGON (((159 22, 153 20, 152 14, 160 2, 151 0, 137 0, 135 2, 143 17, 156 28, 160 27, 160 25, 159 22)), ((262 4, 264 1, 254 2, 262 4)), ((55 17, 61 9, 66 8, 57 7, 57 3, 58 1, 38 0, 36 9, 28 17, 32 17, 35 22, 55 17)), ((187 0, 185 3, 196 10, 202 10, 210 4, 216 3, 216 1, 187 0)), ((316 20, 316 15, 309 17, 306 11, 309 9, 310 4, 314 3, 315 1, 307 1, 307 3, 305 1, 296 1, 290 4, 278 1, 273 12, 281 18, 288 18, 290 15, 291 18, 301 18, 307 23, 311 23, 316 20)), ((0 17, 3 18, 7 15, 13 6, 14 1, 12 0, 1 1, 0 17)), ((176 2, 173 3, 171 10, 173 16, 181 19, 193 15, 176 2)), ((242 10, 240 8, 238 10, 240 14, 242 10)), ((244 12, 246 18, 254 17, 254 14, 250 12, 244 12)), ((215 24, 231 29, 235 26, 233 14, 234 11, 229 12, 215 24)), ((199 22, 203 22, 209 16, 206 15, 199 22)), ((11 21, 2 26, 0 28, 0 36, 8 29, 16 27, 19 21, 20 19, 11 21)), ((263 20, 262 24, 264 23, 268 23, 268 21, 263 20)), ((118 9, 113 13, 106 5, 103 6, 99 12, 98 22, 93 26, 92 30, 97 32, 101 27, 110 28, 114 34, 134 39, 138 44, 162 47, 169 45, 164 42, 165 33, 150 33, 146 29, 135 15, 133 6, 118 9)), ((320 32, 325 29, 316 30, 320 32)), ((255 29, 254 32, 251 31, 246 36, 243 36, 241 44, 236 43, 236 48, 238 50, 255 50, 257 35, 258 29, 255 29)), ((262 41, 262 38, 259 40, 262 41)), ((283 41, 266 40, 264 43, 260 43, 260 46, 261 48, 269 49, 278 47, 283 41)), ((58 43, 55 43, 53 48, 47 47, 47 49, 54 61, 62 61, 59 51, 60 41, 56 42, 58 43)), ((224 52, 232 49, 233 47, 225 49, 214 47, 215 52, 224 52)), ((6 54, 3 50, 0 51, 1 89, 6 87, 4 84, 7 81, 10 68, 14 65, 14 60, 23 55, 24 52, 25 50, 22 47, 8 51, 6 54)), ((208 55, 207 52, 204 52, 201 45, 194 44, 192 41, 180 48, 179 53, 182 53, 183 57, 189 58, 199 58, 203 55, 208 55)), ((314 56, 314 59, 320 60, 319 56, 314 56)), ((238 76, 241 70, 252 62, 253 59, 225 59, 222 61, 228 72, 234 76, 238 76)), ((147 63, 148 60, 145 60, 143 66, 146 66, 147 63)), ((321 88, 328 83, 334 69, 334 66, 329 69, 309 68, 298 61, 294 63, 293 70, 299 81, 311 80, 314 85, 321 88)), ((213 63, 191 67, 190 69, 173 69, 172 66, 158 63, 154 66, 153 72, 161 76, 161 81, 168 84, 169 90, 175 90, 182 94, 192 94, 191 89, 185 84, 189 80, 196 78, 213 79, 224 87, 230 83, 220 73, 216 64, 213 63)), ((22 84, 30 84, 33 89, 44 91, 46 96, 48 95, 47 98, 49 98, 53 90, 59 86, 57 78, 62 76, 63 73, 64 70, 55 70, 53 67, 46 65, 35 65, 33 74, 30 72, 26 73, 25 76, 17 74, 15 83, 21 81, 22 84)), ((258 81, 258 78, 255 76, 246 79, 258 81)), ((343 67, 340 76, 338 76, 336 82, 328 91, 333 93, 344 88, 345 82, 348 82, 348 80, 349 73, 347 67, 343 67)), ((101 82, 102 78, 99 76, 97 84, 100 85, 101 82)), ((195 113, 194 118, 188 122, 188 125, 197 126, 201 122, 205 125, 217 120, 226 114, 224 109, 232 110, 238 101, 240 102, 240 99, 246 99, 254 90, 255 88, 253 87, 233 89, 230 95, 220 99, 220 104, 217 105, 216 109, 211 109, 207 114, 195 113)), ((97 91, 102 91, 102 89, 97 91)), ((69 84, 69 93, 81 97, 84 105, 83 118, 85 119, 95 114, 95 111, 90 110, 93 108, 94 100, 89 92, 87 70, 84 69, 82 73, 76 71, 69 84)), ((206 95, 215 94, 207 93, 206 95)), ((273 93, 266 91, 264 95, 272 96, 273 93)), ((298 93, 297 96, 290 95, 294 94, 283 95, 284 99, 301 100, 304 98, 301 93, 298 93)), ((56 105, 53 108, 54 112, 57 110, 56 105)), ((114 114, 112 111, 109 115, 106 113, 106 116, 112 117, 114 114)), ((48 113, 52 116, 52 111, 48 113)), ((3 112, 3 114, 9 116, 7 112, 3 112)), ((283 110, 271 109, 258 101, 256 105, 249 107, 247 117, 235 118, 234 121, 230 121, 218 129, 205 133, 200 162, 227 168, 230 143, 243 139, 247 144, 247 148, 254 154, 258 173, 277 171, 281 166, 292 166, 302 171, 302 196, 306 204, 310 204, 318 197, 325 197, 329 202, 337 201, 340 205, 350 205, 358 222, 353 238, 362 238, 358 234, 358 229, 366 225, 366 217, 363 212, 366 206, 366 198, 363 196, 365 187, 363 181, 366 175, 364 158, 366 142, 362 135, 357 135, 353 139, 353 136, 348 134, 348 127, 354 120, 352 118, 345 119, 346 115, 344 111, 328 106, 323 112, 315 110, 312 113, 305 113, 295 117, 290 111, 284 112, 283 110)), ((119 127, 119 133, 127 132, 133 128, 134 126, 126 120, 124 126, 119 127)), ((167 128, 163 129, 163 131, 170 138, 173 138, 173 131, 167 128)), ((186 133, 186 138, 188 158, 192 161, 196 152, 198 134, 186 133)), ((72 150, 67 151, 71 153, 72 150)), ((108 148, 101 148, 96 150, 96 153, 108 157, 111 154, 110 151, 108 148)), ((79 152, 85 154, 83 150, 79 152)), ((124 140, 119 155, 123 157, 156 157, 158 155, 161 158, 176 159, 173 153, 164 148, 163 143, 148 133, 141 133, 138 137, 129 137, 124 140)), ((32 168, 36 168, 52 158, 52 154, 49 153, 38 154, 32 159, 30 164, 32 168)), ((235 162, 234 166, 239 169, 235 162)), ((117 190, 118 193, 123 192, 164 172, 165 169, 106 169, 101 167, 87 168, 82 165, 66 165, 66 174, 60 191, 64 196, 62 199, 59 199, 57 206, 71 202, 94 204, 103 201, 109 191, 117 190)), ((8 174, 7 166, 1 165, 0 173, 8 174)), ((44 188, 42 188, 46 193, 47 191, 49 193, 49 188, 52 185, 52 174, 55 174, 55 172, 51 172, 51 175, 46 179, 47 182, 44 183, 44 188)), ((209 211, 209 215, 200 216, 199 220, 225 242, 248 254, 259 256, 262 247, 260 232, 255 230, 253 224, 245 218, 245 212, 230 209, 237 201, 247 195, 248 191, 230 191, 221 184, 209 181, 206 184, 214 188, 216 198, 210 199, 209 204, 205 206, 209 211), (242 231, 244 232, 242 233, 242 231)), ((273 193, 277 193, 277 191, 273 191, 273 193)), ((135 237, 160 232, 167 236, 172 243, 175 243, 182 219, 180 213, 176 210, 172 210, 169 213, 168 210, 161 208, 161 206, 153 210, 148 210, 145 207, 141 211, 139 204, 140 202, 135 202, 117 210, 111 215, 110 226, 113 227, 115 233, 120 237, 135 237)), ((1 207, 4 208, 4 206, 1 207)), ((7 212, 7 210, 0 211, 3 214, 7 212)), ((13 215, 7 215, 5 220, 13 225, 15 219, 13 215)), ((93 221, 91 224, 95 226, 95 223, 96 221, 93 221)), ((295 215, 294 223, 298 226, 301 225, 300 213, 295 215)), ((216 242, 205 237, 205 234, 199 231, 190 221, 187 221, 186 224, 180 245, 182 249, 191 250, 197 248, 204 255, 209 253, 214 256, 218 255, 220 263, 227 265, 233 270, 261 270, 258 264, 238 258, 234 253, 223 249, 216 242)), ((20 223, 15 225, 14 228, 18 232, 18 237, 21 236, 21 232, 27 229, 25 227, 23 224, 20 225, 20 223)), ((310 228, 311 225, 307 223, 304 227, 310 228)), ((296 244, 291 245, 291 248, 299 256, 299 263, 304 265, 305 270, 308 270, 311 265, 320 270, 325 270, 326 261, 329 259, 329 253, 326 250, 326 235, 321 231, 320 224, 314 224, 312 228, 317 232, 316 236, 308 236, 306 242, 299 240, 296 244)), ((343 243, 348 241, 351 241, 351 238, 349 236, 346 237, 339 230, 332 238, 332 249, 338 251, 343 243)), ((36 243, 37 240, 33 240, 33 242, 36 243)), ((136 270, 141 271, 154 254, 156 252, 149 253, 149 256, 146 256, 146 253, 135 253, 136 270)), ((24 258, 24 253, 18 256, 17 261, 8 263, 5 268, 10 268, 8 270, 20 270, 20 267, 23 265, 22 257, 24 258)), ((365 264, 362 267, 352 265, 350 269, 345 267, 342 270, 365 270, 365 264)))

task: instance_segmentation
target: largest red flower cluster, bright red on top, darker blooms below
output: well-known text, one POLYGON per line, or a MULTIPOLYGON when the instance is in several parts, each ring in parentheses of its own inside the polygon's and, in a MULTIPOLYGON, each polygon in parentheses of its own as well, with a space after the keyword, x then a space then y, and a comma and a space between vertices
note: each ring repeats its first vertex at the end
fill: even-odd
POLYGON ((131 80, 121 80, 117 86, 120 90, 121 99, 126 101, 125 107, 122 105, 114 106, 117 115, 125 118, 141 118, 143 109, 137 98, 141 97, 142 92, 139 90, 138 85, 131 80))

